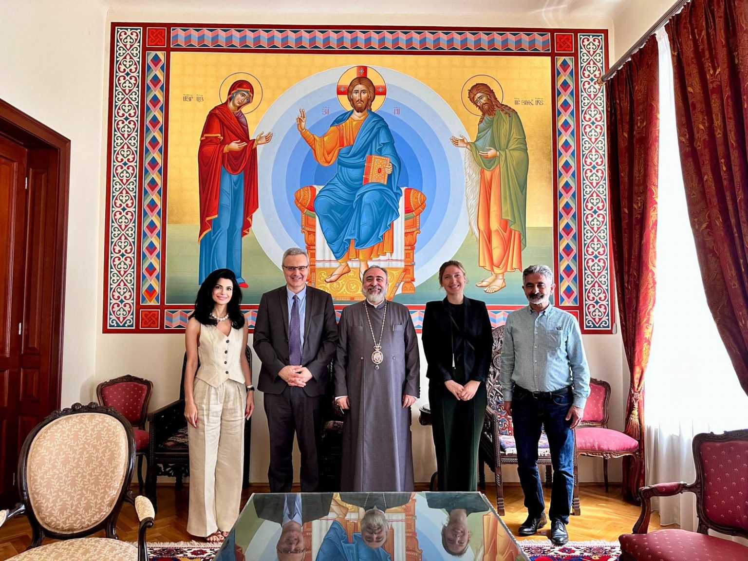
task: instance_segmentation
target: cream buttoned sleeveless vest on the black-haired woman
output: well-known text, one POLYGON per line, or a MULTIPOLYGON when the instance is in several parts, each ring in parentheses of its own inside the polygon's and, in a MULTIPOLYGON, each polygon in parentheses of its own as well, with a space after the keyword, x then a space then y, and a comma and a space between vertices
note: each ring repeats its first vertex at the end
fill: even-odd
POLYGON ((242 365, 239 362, 242 352, 242 330, 231 329, 224 335, 215 325, 200 325, 200 346, 197 347, 197 358, 200 368, 195 378, 218 387, 227 380, 238 381, 244 385, 242 365))

